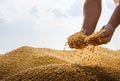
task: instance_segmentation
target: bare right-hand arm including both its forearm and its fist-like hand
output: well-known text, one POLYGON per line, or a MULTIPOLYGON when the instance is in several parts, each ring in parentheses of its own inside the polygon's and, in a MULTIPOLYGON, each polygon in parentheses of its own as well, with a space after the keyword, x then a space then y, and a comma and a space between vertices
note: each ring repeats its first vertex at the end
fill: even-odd
POLYGON ((106 44, 110 42, 115 29, 120 24, 120 4, 118 4, 108 22, 107 25, 103 26, 101 30, 101 43, 106 44))

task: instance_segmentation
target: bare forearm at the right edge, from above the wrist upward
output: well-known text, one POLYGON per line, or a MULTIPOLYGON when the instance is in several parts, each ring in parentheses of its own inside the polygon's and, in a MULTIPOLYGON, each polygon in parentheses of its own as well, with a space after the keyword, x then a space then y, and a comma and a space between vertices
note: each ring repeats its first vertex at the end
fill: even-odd
POLYGON ((112 25, 114 28, 118 27, 120 24, 120 4, 115 8, 108 24, 112 25))

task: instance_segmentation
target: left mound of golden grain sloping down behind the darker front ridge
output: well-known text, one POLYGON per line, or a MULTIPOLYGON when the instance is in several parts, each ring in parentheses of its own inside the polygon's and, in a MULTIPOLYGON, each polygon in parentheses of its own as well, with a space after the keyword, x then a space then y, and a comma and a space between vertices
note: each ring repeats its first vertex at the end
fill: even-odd
MULTIPOLYGON (((49 51, 49 49, 47 51, 49 51)), ((67 62, 56 57, 49 56, 45 53, 45 49, 22 47, 6 53, 0 58, 0 79, 6 78, 27 68, 61 63, 67 62)))

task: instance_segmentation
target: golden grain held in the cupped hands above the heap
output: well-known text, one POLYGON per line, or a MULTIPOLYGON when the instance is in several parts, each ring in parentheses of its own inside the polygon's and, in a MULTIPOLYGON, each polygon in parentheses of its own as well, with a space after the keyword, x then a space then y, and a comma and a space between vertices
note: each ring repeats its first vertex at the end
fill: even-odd
POLYGON ((90 36, 86 36, 82 32, 75 33, 68 37, 68 45, 70 48, 83 49, 89 45, 97 46, 102 44, 100 32, 93 33, 90 36))

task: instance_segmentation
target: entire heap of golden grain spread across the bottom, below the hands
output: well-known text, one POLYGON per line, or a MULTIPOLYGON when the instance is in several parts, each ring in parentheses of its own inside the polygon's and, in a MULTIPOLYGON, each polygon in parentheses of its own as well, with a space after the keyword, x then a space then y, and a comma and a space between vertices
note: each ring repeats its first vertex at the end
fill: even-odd
POLYGON ((0 81, 120 81, 120 52, 25 46, 1 55, 0 81))

